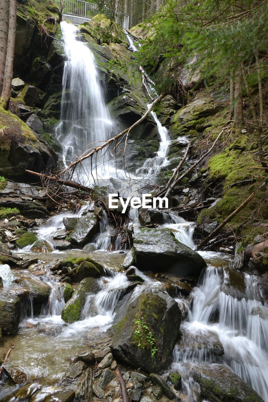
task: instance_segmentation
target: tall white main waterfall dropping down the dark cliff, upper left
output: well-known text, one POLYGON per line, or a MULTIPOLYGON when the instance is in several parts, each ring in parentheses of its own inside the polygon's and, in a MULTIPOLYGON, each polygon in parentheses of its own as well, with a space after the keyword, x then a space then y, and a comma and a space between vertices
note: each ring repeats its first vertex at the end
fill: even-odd
MULTIPOLYGON (((61 117, 56 137, 63 146, 62 157, 66 166, 75 156, 107 141, 111 136, 112 122, 105 107, 92 51, 87 43, 81 41, 77 27, 65 21, 60 25, 67 61, 64 63, 61 117)), ((94 172, 90 160, 86 160, 83 169, 77 172, 78 178, 82 176, 82 182, 87 185, 93 178, 105 178, 102 166, 108 159, 108 152, 98 152, 94 172)))

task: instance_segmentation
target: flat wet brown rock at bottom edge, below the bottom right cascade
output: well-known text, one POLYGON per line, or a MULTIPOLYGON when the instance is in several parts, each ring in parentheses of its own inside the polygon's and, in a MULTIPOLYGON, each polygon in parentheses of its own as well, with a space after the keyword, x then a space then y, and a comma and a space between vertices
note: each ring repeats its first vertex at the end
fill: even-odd
POLYGON ((200 384, 201 397, 214 402, 263 402, 262 398, 228 367, 220 364, 200 365, 190 369, 200 384))

